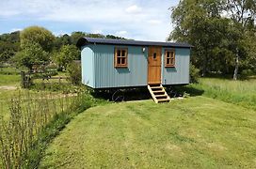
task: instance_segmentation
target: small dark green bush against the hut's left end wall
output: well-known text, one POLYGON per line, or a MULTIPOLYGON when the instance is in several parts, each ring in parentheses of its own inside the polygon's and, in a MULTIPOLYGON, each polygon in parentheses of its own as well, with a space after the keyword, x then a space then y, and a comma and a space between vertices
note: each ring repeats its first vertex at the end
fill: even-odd
POLYGON ((68 66, 68 72, 69 72, 69 80, 71 81, 72 84, 81 84, 82 81, 82 70, 81 70, 81 65, 72 62, 68 66))

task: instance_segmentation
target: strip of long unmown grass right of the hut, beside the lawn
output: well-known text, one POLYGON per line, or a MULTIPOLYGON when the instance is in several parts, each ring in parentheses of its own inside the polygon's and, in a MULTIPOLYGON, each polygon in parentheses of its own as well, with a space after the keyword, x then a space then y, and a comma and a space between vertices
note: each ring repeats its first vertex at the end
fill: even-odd
POLYGON ((201 78, 199 84, 190 84, 189 92, 197 89, 202 95, 232 102, 256 110, 256 79, 232 81, 217 78, 201 78))

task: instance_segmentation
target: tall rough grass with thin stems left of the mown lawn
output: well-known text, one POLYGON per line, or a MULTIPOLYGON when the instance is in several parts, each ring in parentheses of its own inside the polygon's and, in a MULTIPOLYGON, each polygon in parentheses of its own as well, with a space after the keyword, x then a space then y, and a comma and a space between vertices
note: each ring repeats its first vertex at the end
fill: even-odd
POLYGON ((83 92, 29 91, 13 96, 8 101, 8 120, 0 117, 0 167, 36 167, 44 147, 41 144, 49 142, 48 137, 63 128, 73 112, 91 105, 91 99, 85 97, 83 92))

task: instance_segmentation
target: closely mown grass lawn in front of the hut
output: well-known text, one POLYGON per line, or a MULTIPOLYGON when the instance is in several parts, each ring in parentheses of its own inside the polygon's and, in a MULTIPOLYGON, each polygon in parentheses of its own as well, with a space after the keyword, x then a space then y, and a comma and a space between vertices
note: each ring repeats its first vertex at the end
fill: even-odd
POLYGON ((76 116, 40 168, 255 168, 256 112, 206 97, 113 103, 76 116))

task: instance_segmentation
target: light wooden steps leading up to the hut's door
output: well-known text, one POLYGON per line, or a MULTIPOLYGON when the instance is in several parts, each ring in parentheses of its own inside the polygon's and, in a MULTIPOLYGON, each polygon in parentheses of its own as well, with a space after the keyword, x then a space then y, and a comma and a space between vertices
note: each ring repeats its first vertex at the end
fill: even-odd
POLYGON ((162 84, 148 84, 154 102, 168 102, 170 99, 162 84))

